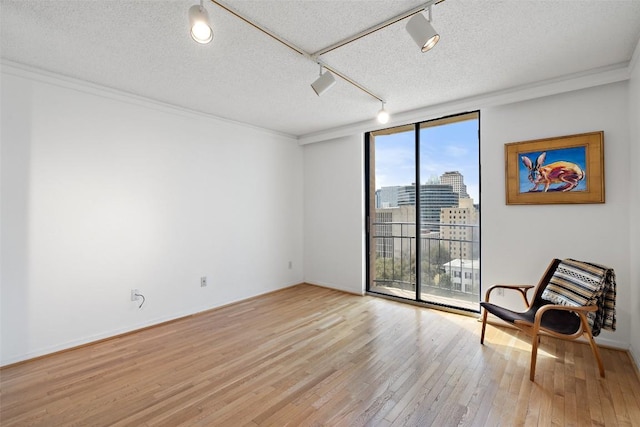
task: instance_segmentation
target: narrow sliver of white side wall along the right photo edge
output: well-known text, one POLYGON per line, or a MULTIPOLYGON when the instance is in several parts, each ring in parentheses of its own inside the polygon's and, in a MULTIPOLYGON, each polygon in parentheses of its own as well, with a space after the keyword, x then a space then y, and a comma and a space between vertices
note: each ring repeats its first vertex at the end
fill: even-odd
POLYGON ((631 286, 631 355, 640 367, 640 42, 636 47, 635 63, 629 81, 629 125, 631 129, 630 143, 630 248, 631 286))

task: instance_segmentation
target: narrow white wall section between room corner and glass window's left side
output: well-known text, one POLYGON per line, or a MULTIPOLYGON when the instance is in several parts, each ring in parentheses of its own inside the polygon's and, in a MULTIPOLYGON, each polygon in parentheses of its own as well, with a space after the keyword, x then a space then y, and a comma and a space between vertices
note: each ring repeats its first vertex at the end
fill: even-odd
POLYGON ((304 147, 305 282, 364 292, 362 135, 304 147))

